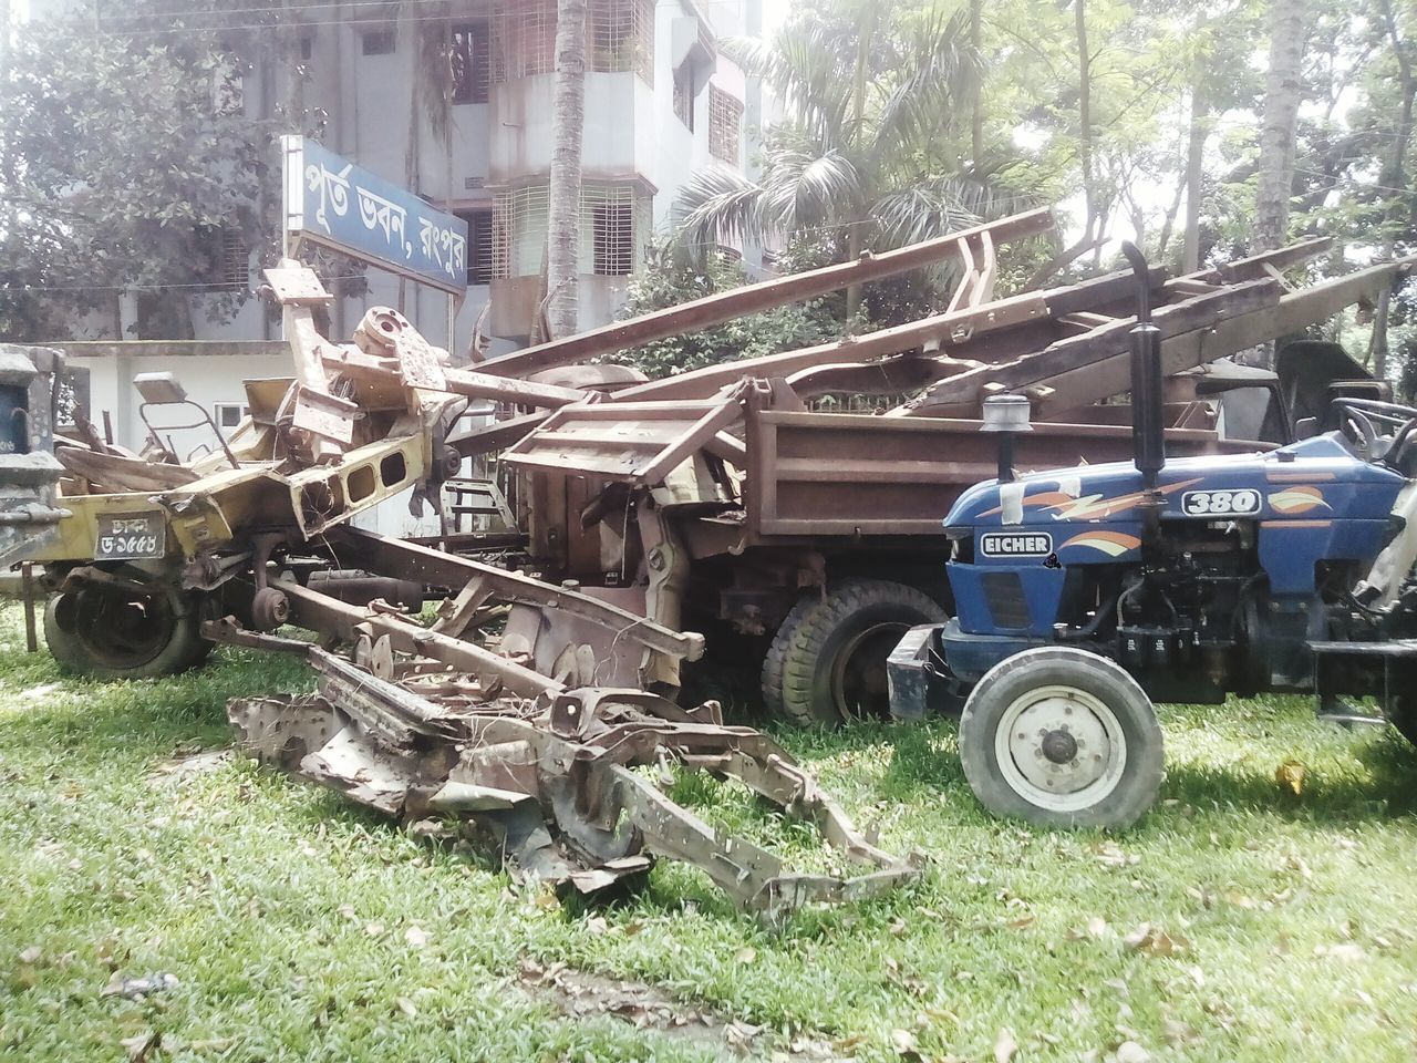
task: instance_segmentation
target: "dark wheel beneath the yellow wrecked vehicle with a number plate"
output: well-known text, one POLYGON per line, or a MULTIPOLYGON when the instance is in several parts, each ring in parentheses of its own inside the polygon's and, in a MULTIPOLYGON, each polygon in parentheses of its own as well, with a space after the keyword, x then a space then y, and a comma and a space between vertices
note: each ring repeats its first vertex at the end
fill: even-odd
POLYGON ((211 643, 201 636, 197 600, 179 617, 166 594, 137 595, 84 587, 50 598, 44 641, 67 672, 94 679, 153 679, 201 663, 211 643))

